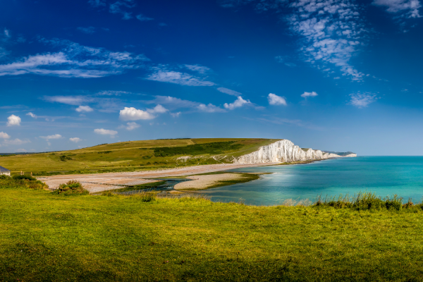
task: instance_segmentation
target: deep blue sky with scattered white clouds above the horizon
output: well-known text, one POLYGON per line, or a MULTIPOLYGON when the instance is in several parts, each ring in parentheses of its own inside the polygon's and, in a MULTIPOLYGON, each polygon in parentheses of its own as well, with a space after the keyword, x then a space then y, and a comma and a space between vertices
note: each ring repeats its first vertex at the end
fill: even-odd
POLYGON ((420 1, 2 1, 0 152, 262 137, 423 155, 420 1))

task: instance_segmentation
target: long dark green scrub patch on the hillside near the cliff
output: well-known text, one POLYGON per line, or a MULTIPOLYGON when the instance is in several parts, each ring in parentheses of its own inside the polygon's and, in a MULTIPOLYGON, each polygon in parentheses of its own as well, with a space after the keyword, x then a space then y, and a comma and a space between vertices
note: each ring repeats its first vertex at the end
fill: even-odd
POLYGON ((172 157, 178 154, 197 156, 200 154, 223 154, 226 151, 236 150, 243 147, 234 144, 235 141, 214 142, 188 145, 185 147, 158 147, 154 148, 154 157, 172 157))

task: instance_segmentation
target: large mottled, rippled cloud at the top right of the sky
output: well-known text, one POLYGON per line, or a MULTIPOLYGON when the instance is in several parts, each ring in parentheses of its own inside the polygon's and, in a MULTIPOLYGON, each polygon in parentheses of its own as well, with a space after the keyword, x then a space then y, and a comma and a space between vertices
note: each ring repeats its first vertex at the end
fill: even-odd
POLYGON ((350 0, 298 0, 290 7, 294 13, 287 20, 304 38, 300 51, 305 60, 323 68, 333 64, 352 80, 362 80, 364 74, 349 63, 366 32, 359 6, 350 0))

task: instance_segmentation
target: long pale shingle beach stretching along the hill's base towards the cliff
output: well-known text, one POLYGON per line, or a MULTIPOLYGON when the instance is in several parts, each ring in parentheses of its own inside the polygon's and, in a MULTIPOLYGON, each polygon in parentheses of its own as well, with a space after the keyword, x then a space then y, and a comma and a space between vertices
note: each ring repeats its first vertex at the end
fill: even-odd
MULTIPOLYGON (((276 164, 276 163, 275 163, 276 164)), ((57 188, 61 183, 68 180, 78 180, 84 187, 93 192, 102 192, 106 190, 114 190, 120 188, 113 184, 120 185, 139 185, 144 183, 155 182, 145 178, 157 178, 166 176, 190 176, 192 174, 210 173, 215 171, 225 171, 233 168, 245 168, 252 166, 269 166, 271 164, 209 164, 204 166, 188 166, 183 168, 170 168, 155 171, 134 171, 134 172, 116 172, 116 173, 95 173, 95 174, 70 174, 61 176, 39 177, 39 180, 47 183, 50 188, 57 188)), ((216 178, 218 180, 221 175, 207 176, 208 181, 216 178)))

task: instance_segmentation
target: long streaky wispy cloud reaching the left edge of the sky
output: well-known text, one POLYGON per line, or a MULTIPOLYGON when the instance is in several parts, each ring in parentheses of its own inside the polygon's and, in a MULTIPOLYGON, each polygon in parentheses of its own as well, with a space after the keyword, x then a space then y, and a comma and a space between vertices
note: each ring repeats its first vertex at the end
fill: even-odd
POLYGON ((144 55, 85 47, 69 40, 39 38, 59 51, 23 57, 0 65, 1 75, 52 75, 62 78, 102 78, 141 68, 149 61, 144 55))

